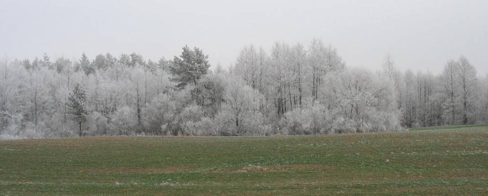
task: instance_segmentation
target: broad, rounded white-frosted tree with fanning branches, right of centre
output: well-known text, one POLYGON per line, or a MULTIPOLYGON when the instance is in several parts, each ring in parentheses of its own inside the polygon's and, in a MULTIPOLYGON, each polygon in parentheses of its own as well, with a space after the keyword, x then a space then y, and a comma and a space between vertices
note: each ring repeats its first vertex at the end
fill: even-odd
POLYGON ((325 91, 331 92, 327 97, 335 116, 333 129, 361 132, 398 128, 394 86, 372 75, 364 69, 327 75, 325 91))

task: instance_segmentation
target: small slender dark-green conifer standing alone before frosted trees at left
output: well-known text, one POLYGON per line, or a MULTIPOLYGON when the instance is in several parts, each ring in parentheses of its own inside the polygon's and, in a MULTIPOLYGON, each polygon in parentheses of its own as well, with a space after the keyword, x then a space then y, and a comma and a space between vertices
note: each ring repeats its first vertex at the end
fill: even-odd
POLYGON ((70 108, 70 116, 78 123, 80 127, 79 136, 82 136, 81 123, 86 122, 88 116, 87 95, 86 92, 77 84, 68 98, 68 107, 70 108))

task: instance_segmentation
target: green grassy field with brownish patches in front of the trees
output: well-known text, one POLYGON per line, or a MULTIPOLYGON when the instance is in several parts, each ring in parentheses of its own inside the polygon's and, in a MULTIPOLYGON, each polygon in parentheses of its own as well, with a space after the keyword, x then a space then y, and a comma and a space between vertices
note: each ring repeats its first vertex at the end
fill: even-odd
POLYGON ((487 195, 488 125, 0 141, 0 195, 487 195))

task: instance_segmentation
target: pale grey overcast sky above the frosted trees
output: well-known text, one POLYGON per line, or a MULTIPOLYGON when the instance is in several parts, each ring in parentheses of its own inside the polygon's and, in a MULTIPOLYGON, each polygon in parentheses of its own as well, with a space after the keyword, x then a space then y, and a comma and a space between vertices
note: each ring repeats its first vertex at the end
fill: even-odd
POLYGON ((172 59, 187 44, 225 67, 245 45, 313 38, 352 67, 379 69, 389 53, 402 70, 440 73, 465 55, 484 75, 488 0, 0 0, 0 51, 19 59, 172 59))

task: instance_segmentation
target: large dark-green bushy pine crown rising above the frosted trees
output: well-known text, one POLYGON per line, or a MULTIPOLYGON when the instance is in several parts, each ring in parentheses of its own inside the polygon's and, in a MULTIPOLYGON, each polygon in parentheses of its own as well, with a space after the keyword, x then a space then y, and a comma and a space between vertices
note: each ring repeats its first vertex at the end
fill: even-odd
POLYGON ((173 65, 169 72, 173 74, 172 80, 178 82, 177 87, 184 87, 187 84, 196 84, 202 75, 207 74, 210 64, 209 55, 205 55, 201 49, 191 50, 188 46, 183 48, 180 57, 175 56, 173 65))

